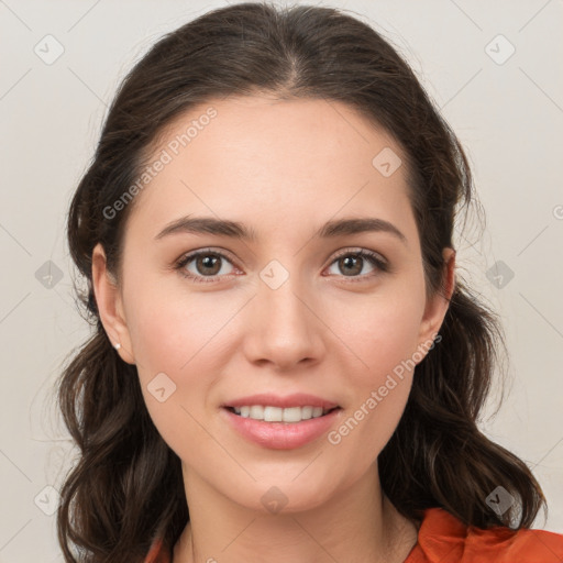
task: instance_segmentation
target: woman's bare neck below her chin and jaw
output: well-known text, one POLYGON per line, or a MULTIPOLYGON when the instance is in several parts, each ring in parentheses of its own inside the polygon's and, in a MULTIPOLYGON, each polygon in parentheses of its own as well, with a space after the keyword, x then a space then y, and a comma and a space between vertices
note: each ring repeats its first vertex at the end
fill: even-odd
POLYGON ((185 473, 190 521, 174 563, 402 563, 417 526, 382 494, 377 472, 309 510, 257 512, 185 473))

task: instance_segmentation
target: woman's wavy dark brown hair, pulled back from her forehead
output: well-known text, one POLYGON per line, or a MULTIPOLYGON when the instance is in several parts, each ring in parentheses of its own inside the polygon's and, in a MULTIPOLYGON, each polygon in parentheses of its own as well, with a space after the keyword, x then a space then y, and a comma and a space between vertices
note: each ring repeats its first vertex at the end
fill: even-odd
MULTIPOLYGON (((92 250, 103 245, 119 280, 135 200, 115 217, 104 209, 134 185, 150 148, 180 112, 212 98, 256 92, 339 100, 393 135, 407 159, 427 292, 444 290, 442 250, 453 247, 456 212, 476 203, 470 165, 386 40, 336 9, 265 2, 221 8, 166 34, 122 81, 68 214, 70 254, 88 285, 77 292, 96 330, 57 388, 80 449, 57 512, 67 562, 143 561, 153 538, 172 547, 189 519, 180 460, 148 416, 136 367, 115 353, 99 319, 92 250)), ((417 366, 402 418, 379 454, 383 489, 411 519, 442 507, 479 528, 529 528, 545 505, 540 485, 520 459, 477 428, 506 347, 498 318, 457 280, 440 335, 417 366), (517 500, 500 516, 486 503, 499 485, 517 500)))

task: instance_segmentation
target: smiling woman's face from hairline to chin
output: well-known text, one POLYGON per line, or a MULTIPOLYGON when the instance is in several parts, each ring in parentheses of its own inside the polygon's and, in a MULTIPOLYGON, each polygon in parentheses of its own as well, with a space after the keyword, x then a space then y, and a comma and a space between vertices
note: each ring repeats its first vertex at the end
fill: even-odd
POLYGON ((401 150, 340 102, 241 97, 178 118, 158 158, 135 196, 119 289, 95 251, 106 330, 188 482, 256 510, 272 486, 286 510, 319 506, 375 468, 446 311, 426 299, 406 169, 393 172, 401 150), (187 216, 253 236, 178 228, 187 216), (322 232, 347 219, 377 221, 322 232), (287 438, 224 408, 255 394, 339 408, 287 438))

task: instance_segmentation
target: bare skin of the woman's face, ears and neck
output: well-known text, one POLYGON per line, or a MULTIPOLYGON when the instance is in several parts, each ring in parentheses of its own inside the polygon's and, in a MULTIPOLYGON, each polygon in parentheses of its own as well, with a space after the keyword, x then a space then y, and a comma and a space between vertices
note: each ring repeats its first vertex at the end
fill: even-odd
MULTIPOLYGON (((136 364, 148 412, 183 462, 191 521, 174 562, 402 562, 418 522, 383 494, 377 455, 399 422, 412 371, 336 445, 323 435, 294 450, 266 449, 220 416, 229 398, 303 391, 342 407, 336 429, 438 333, 449 302, 426 298, 406 166, 384 177, 372 165, 384 147, 402 158, 400 146, 341 102, 253 96, 192 108, 167 129, 155 158, 211 104, 217 118, 136 196, 121 285, 100 245, 92 255, 103 327, 121 343, 122 360, 136 364), (189 213, 243 222, 258 240, 155 240, 189 213), (385 232, 312 239, 330 219, 366 214, 390 221, 406 244, 385 232), (208 247, 230 256, 212 283, 174 269, 183 255, 208 247), (361 249, 393 271, 364 260, 350 273, 334 257, 361 249), (272 260, 289 274, 275 290, 260 277, 272 260), (164 402, 147 389, 162 372, 176 385, 164 402), (272 486, 287 499, 277 514, 261 501, 272 486)), ((444 257, 449 299, 454 251, 444 249, 444 257)), ((205 276, 201 268, 194 260, 184 269, 205 276)))

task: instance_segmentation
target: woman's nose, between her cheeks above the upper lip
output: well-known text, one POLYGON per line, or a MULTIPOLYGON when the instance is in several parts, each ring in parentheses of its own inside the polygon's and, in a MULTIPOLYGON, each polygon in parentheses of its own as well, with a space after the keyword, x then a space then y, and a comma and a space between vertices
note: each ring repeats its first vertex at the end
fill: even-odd
POLYGON ((290 371, 299 364, 312 364, 322 357, 325 344, 318 311, 318 299, 311 297, 297 276, 276 289, 258 284, 257 295, 250 303, 244 353, 254 364, 272 364, 277 371, 290 371))

